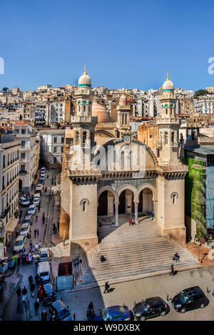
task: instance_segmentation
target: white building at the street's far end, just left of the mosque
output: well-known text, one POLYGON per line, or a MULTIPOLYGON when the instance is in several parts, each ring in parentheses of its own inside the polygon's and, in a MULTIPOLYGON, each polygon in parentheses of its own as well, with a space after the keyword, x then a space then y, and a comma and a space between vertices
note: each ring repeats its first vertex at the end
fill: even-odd
POLYGON ((65 130, 40 130, 41 161, 49 168, 61 168, 65 130))

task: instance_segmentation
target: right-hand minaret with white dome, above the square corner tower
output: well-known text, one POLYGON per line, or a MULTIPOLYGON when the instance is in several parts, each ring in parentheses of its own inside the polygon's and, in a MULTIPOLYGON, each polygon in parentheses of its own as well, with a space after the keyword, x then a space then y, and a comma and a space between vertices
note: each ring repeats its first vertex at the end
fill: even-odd
POLYGON ((161 117, 156 118, 159 133, 159 163, 161 165, 178 165, 178 130, 180 128, 180 120, 175 118, 174 85, 169 79, 163 83, 163 93, 160 96, 161 117))

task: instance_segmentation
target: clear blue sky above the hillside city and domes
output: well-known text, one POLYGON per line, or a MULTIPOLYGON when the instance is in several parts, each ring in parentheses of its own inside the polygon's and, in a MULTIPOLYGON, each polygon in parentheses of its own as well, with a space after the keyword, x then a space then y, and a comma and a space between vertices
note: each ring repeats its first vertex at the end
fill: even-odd
POLYGON ((214 86, 214 1, 10 0, 0 4, 0 88, 214 86))

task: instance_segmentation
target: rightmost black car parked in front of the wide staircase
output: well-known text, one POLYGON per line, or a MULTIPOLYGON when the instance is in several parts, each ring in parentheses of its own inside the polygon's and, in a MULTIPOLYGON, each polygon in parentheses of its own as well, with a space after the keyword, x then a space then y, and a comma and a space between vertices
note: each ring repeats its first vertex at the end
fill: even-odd
POLYGON ((208 305, 209 300, 200 287, 189 287, 176 294, 172 299, 172 305, 176 311, 185 313, 191 309, 203 308, 208 305))

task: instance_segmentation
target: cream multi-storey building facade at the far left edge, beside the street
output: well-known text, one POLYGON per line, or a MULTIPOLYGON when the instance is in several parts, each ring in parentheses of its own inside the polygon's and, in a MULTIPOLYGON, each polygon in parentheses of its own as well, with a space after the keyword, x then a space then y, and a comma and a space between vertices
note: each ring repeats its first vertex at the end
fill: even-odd
POLYGON ((18 140, 0 144, 0 241, 5 247, 19 221, 14 215, 19 209, 19 148, 18 140))

